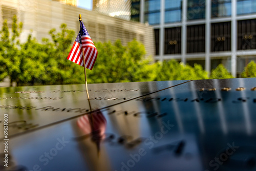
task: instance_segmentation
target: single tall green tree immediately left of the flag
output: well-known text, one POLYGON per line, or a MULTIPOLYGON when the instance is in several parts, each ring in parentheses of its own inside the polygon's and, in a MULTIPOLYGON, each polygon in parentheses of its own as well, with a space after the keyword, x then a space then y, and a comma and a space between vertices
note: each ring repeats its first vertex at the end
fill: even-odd
POLYGON ((67 60, 75 39, 75 32, 68 30, 66 24, 61 24, 60 29, 60 32, 56 32, 56 29, 49 32, 53 44, 45 39, 45 45, 51 47, 45 59, 47 74, 51 80, 46 84, 84 83, 83 68, 67 60))

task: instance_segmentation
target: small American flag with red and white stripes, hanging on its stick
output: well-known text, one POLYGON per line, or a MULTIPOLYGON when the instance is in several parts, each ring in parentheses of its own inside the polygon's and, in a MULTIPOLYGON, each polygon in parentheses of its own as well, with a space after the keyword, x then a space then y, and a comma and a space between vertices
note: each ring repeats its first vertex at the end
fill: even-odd
POLYGON ((67 59, 77 63, 80 66, 83 66, 82 50, 84 53, 84 60, 86 61, 86 68, 92 70, 98 55, 98 51, 94 46, 93 40, 86 30, 86 27, 82 22, 80 22, 80 31, 67 59))

